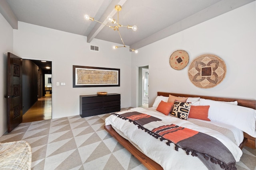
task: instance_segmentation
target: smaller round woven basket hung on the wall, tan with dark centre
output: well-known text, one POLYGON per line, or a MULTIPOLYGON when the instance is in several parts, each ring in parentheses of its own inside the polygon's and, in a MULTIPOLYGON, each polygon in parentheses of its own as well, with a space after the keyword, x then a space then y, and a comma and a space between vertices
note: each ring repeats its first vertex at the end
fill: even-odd
POLYGON ((189 56, 184 50, 178 50, 170 56, 170 66, 175 70, 182 70, 188 65, 189 56))

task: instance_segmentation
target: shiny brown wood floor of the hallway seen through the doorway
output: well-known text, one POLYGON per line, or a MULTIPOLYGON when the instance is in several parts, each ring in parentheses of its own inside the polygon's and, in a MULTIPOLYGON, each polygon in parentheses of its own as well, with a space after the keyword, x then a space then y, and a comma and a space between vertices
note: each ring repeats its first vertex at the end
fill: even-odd
POLYGON ((46 94, 22 116, 22 123, 52 119, 52 94, 46 94))

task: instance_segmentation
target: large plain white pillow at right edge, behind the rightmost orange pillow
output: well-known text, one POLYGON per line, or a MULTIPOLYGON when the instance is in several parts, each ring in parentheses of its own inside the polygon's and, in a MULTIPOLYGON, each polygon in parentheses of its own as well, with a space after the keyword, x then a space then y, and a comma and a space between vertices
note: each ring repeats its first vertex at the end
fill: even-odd
POLYGON ((208 118, 211 121, 233 125, 248 135, 256 137, 255 109, 206 99, 200 99, 200 105, 210 105, 208 118))

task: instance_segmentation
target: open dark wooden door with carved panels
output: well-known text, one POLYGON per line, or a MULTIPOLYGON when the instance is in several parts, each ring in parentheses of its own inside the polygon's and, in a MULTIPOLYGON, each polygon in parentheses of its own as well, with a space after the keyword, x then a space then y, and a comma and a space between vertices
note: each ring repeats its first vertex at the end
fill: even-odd
POLYGON ((8 53, 7 59, 7 125, 8 132, 22 122, 22 59, 8 53))

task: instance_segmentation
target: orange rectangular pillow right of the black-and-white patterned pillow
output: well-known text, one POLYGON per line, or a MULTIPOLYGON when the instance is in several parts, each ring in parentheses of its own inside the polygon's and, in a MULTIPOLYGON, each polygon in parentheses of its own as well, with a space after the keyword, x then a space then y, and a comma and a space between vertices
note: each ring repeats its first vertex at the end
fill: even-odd
POLYGON ((210 119, 208 119, 209 108, 210 106, 191 106, 188 117, 211 121, 210 119))

